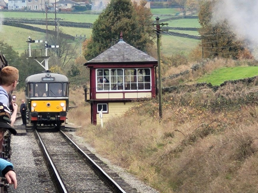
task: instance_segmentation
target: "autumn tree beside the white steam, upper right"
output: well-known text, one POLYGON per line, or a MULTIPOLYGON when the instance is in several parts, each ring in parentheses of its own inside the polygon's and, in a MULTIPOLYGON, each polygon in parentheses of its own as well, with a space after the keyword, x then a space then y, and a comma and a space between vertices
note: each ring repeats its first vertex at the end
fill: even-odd
POLYGON ((201 4, 199 23, 201 47, 204 58, 238 58, 243 51, 243 43, 236 39, 236 35, 229 29, 226 20, 221 23, 212 23, 212 6, 215 1, 206 1, 201 4))

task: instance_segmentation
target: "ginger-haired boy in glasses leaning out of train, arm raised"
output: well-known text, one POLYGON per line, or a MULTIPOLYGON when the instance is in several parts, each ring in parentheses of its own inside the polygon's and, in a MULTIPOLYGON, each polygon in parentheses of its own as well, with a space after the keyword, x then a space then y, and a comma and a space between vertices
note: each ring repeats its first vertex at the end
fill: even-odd
MULTIPOLYGON (((5 106, 9 107, 8 93, 14 91, 17 84, 20 83, 19 71, 17 68, 12 66, 4 67, 0 72, 0 102, 5 106)), ((13 126, 17 114, 18 105, 14 102, 12 103, 12 116, 11 116, 11 126, 13 126)))

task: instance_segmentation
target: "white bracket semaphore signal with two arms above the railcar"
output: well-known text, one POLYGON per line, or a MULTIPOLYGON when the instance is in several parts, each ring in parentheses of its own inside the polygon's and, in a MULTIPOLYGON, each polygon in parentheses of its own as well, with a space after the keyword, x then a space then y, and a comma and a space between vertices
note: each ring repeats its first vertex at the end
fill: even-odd
POLYGON ((40 66, 42 66, 45 70, 49 70, 48 60, 50 58, 48 49, 50 48, 59 48, 59 45, 48 45, 47 41, 45 41, 45 48, 44 49, 31 49, 32 43, 43 43, 43 40, 32 40, 29 36, 28 41, 29 50, 25 50, 27 59, 34 59, 40 66), (38 59, 43 59, 43 61, 38 61, 38 59), (45 62, 45 66, 43 65, 45 62))

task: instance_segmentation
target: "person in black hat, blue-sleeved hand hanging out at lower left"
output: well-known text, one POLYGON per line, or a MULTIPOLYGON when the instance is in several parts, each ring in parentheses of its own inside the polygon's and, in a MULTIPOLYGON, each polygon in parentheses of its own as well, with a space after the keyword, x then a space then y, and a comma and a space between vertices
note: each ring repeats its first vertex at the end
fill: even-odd
MULTIPOLYGON (((8 131, 13 135, 17 134, 16 130, 12 128, 10 123, 10 109, 0 102, 0 141, 4 138, 8 131)), ((12 163, 0 158, 0 172, 6 178, 9 184, 14 184, 14 188, 16 189, 17 180, 12 163)))

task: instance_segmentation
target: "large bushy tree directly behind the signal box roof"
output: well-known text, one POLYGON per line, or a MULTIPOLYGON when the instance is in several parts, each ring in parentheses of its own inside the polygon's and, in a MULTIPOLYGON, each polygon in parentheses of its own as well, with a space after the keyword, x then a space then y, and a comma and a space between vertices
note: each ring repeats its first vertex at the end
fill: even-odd
POLYGON ((124 40, 142 51, 153 44, 149 36, 152 29, 148 27, 151 12, 145 8, 146 2, 132 4, 130 0, 111 0, 93 23, 91 39, 87 40, 84 50, 86 60, 96 57, 111 46, 112 39, 123 33, 124 40))

